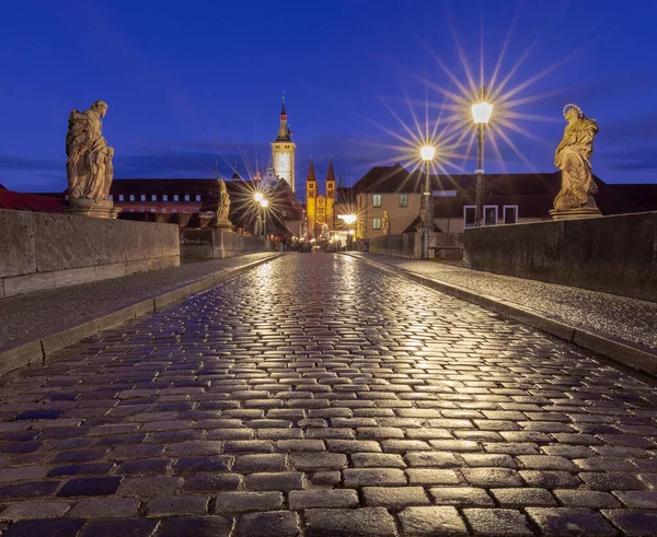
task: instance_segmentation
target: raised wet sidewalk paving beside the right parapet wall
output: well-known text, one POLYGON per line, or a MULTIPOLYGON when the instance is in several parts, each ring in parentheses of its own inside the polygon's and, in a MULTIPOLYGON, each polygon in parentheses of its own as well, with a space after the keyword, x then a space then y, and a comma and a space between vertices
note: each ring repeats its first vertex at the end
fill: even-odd
MULTIPOLYGON (((613 337, 657 349, 657 302, 494 275, 454 264, 413 261, 402 257, 353 254, 411 272, 514 302, 613 337)), ((657 300, 657 297, 655 297, 657 300)))

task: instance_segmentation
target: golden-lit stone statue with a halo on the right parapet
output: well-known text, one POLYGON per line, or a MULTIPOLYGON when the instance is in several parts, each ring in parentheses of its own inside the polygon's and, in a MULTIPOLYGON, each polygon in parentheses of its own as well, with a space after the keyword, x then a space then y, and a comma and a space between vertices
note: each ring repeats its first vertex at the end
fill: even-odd
POLYGON ((600 215, 592 197, 598 187, 590 162, 598 125, 574 104, 567 104, 563 114, 568 125, 554 153, 554 165, 562 171, 562 187, 554 199, 554 210, 550 212, 557 220, 600 215))

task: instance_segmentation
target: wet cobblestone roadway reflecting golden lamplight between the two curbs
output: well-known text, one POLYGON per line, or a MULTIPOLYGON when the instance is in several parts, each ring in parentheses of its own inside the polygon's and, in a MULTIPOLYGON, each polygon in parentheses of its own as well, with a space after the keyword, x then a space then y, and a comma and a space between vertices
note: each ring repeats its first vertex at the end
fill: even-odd
POLYGON ((0 387, 2 536, 657 535, 657 389, 288 255, 0 387))

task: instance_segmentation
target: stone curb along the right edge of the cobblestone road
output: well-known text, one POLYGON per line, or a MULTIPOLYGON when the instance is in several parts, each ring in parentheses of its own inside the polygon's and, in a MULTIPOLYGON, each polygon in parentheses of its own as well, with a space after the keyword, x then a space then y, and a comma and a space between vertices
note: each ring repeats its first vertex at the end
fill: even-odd
POLYGON ((515 302, 505 301, 495 296, 476 293, 460 285, 433 280, 405 269, 394 268, 383 262, 374 261, 359 255, 345 253, 354 259, 371 265, 380 270, 406 278, 415 283, 440 291, 450 296, 476 304, 503 315, 505 318, 517 320, 539 330, 545 331, 560 339, 564 339, 584 349, 602 354, 615 362, 635 370, 657 376, 657 351, 648 347, 613 338, 612 336, 584 328, 570 326, 557 317, 520 306, 515 302))

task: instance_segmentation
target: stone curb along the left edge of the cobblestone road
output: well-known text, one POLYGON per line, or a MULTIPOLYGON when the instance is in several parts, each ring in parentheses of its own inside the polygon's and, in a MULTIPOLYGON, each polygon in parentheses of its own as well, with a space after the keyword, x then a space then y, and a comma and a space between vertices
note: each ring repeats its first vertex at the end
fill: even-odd
POLYGON ((72 324, 65 328, 58 328, 54 332, 42 335, 31 341, 23 341, 19 345, 0 349, 0 381, 2 380, 2 375, 7 375, 21 367, 43 367, 53 362, 53 354, 84 338, 103 330, 115 328, 142 315, 153 314, 188 296, 207 291, 208 289, 240 276, 260 265, 273 261, 283 255, 284 254, 272 254, 264 259, 258 259, 241 267, 215 273, 210 277, 187 283, 186 285, 166 289, 160 294, 140 299, 139 302, 118 310, 99 312, 96 317, 91 320, 84 320, 83 323, 72 324))

